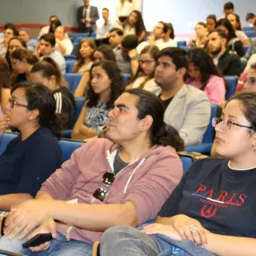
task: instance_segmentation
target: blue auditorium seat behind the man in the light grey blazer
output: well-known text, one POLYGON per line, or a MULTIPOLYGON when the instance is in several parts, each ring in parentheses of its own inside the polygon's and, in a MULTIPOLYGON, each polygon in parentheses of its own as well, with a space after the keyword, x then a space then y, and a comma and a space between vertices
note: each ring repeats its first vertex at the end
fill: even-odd
POLYGON ((199 152, 202 154, 210 154, 212 149, 212 142, 215 139, 215 128, 212 126, 212 118, 217 117, 218 105, 211 105, 211 117, 209 125, 206 129, 206 133, 203 136, 203 142, 199 145, 187 146, 185 151, 188 152, 199 152))

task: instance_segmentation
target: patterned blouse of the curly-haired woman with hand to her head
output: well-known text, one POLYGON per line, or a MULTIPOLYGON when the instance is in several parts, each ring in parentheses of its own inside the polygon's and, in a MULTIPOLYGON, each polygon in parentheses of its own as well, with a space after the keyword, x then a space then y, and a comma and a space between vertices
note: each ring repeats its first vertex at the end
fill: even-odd
POLYGON ((97 130, 100 126, 104 126, 108 120, 108 105, 107 102, 99 101, 96 106, 87 108, 85 116, 85 124, 88 128, 97 130))

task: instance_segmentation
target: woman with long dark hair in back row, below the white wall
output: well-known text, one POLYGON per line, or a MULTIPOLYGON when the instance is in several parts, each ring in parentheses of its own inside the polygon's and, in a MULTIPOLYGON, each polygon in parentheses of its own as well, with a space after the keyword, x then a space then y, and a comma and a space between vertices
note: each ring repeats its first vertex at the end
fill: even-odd
POLYGON ((139 43, 145 38, 146 28, 141 12, 132 11, 122 26, 123 35, 136 35, 139 43))

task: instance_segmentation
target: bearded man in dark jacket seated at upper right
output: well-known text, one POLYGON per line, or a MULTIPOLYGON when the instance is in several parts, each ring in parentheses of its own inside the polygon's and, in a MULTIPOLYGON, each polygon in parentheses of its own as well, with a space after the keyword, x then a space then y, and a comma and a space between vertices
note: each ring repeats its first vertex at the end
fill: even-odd
POLYGON ((215 29, 209 33, 208 50, 211 53, 213 62, 222 75, 236 75, 239 77, 241 73, 241 60, 239 56, 227 51, 227 35, 221 29, 215 29))

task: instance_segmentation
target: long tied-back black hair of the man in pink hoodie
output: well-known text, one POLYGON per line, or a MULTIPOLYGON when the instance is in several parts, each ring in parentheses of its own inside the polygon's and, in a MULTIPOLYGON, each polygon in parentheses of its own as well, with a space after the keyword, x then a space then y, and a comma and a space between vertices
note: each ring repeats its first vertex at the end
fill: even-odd
POLYGON ((153 123, 150 128, 151 145, 172 146, 176 151, 184 150, 184 142, 178 135, 178 131, 172 126, 167 126, 163 122, 164 106, 159 97, 154 93, 150 93, 142 89, 127 90, 130 93, 139 97, 136 103, 138 108, 138 118, 142 120, 147 115, 153 118, 153 123))

